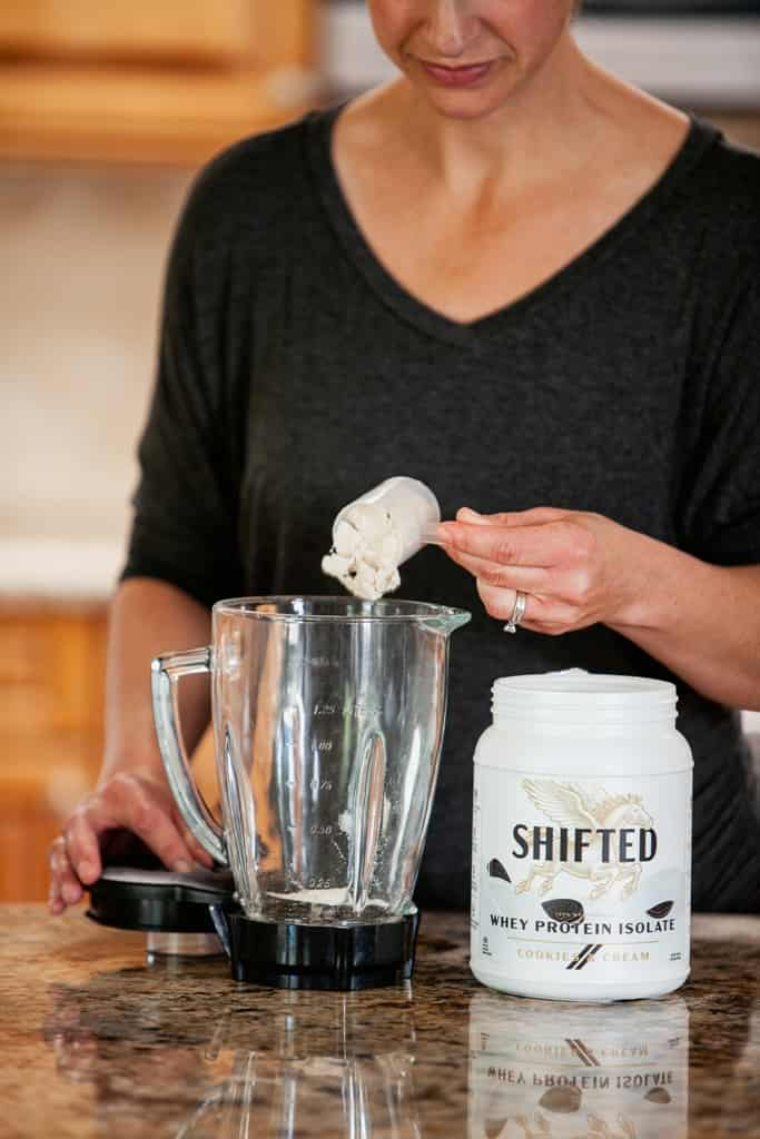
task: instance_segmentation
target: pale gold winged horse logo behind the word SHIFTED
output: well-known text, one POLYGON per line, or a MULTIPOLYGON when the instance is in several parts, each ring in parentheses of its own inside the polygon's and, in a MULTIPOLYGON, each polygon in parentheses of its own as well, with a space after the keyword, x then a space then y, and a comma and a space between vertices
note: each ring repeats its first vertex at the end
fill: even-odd
POLYGON ((587 878, 591 898, 600 898, 613 885, 623 884, 628 898, 638 887, 641 863, 657 851, 652 816, 639 795, 597 794, 575 784, 549 779, 523 779, 531 803, 555 826, 517 823, 513 829, 515 858, 532 858, 529 876, 515 887, 517 893, 540 879, 539 894, 551 890, 559 874, 587 878))

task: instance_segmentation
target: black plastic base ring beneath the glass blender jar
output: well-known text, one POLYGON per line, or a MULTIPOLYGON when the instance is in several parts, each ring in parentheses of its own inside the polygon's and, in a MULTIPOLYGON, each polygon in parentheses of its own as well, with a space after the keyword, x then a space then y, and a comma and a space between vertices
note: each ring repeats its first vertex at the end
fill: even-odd
POLYGON ((309 926, 227 915, 232 976, 278 989, 379 989, 411 980, 419 913, 399 921, 309 926))

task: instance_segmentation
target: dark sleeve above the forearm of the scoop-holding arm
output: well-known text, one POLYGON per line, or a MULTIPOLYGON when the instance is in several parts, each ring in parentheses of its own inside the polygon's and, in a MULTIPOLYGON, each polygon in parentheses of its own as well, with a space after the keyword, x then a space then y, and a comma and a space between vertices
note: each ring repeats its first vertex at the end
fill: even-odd
MULTIPOLYGON (((759 262, 760 271, 760 262, 759 262)), ((709 364, 685 484, 683 544, 717 565, 760 563, 760 286, 733 305, 709 364)))

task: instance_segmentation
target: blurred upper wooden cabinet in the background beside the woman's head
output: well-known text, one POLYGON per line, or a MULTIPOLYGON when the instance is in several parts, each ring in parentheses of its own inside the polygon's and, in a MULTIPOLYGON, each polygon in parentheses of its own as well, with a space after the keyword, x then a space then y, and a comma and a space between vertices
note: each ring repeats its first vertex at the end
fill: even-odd
POLYGON ((0 157, 191 163, 314 98, 313 0, 5 0, 0 157))

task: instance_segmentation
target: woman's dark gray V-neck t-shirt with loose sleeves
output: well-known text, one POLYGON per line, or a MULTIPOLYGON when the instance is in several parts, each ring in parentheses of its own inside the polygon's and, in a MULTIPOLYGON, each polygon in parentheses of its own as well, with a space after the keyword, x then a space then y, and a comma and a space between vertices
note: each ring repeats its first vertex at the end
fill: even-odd
MULTIPOLYGON (((760 158, 693 122, 604 236, 463 326, 407 293, 358 229, 330 161, 336 113, 242 141, 190 194, 125 575, 207 605, 338 591, 320 572, 333 518, 395 474, 430 484, 444 517, 593 510, 712 563, 760 563, 760 158)), ((402 567, 400 592, 473 612, 452 638, 420 903, 467 904, 472 756, 495 678, 580 666, 676 680, 695 907, 760 911, 735 712, 604 625, 505 636, 435 548, 402 567)))

